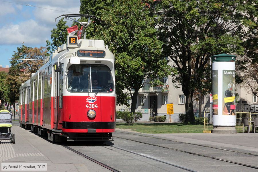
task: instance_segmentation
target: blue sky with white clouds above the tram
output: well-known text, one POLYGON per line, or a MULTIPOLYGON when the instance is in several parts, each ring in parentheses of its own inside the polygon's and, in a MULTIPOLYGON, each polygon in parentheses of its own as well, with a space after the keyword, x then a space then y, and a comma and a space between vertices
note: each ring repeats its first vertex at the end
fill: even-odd
MULTIPOLYGON (((80 0, 0 0, 0 65, 10 66, 17 47, 46 46, 62 14, 79 13, 80 0)), ((67 20, 67 25, 71 26, 67 20)))

